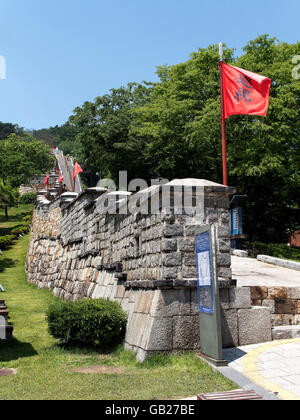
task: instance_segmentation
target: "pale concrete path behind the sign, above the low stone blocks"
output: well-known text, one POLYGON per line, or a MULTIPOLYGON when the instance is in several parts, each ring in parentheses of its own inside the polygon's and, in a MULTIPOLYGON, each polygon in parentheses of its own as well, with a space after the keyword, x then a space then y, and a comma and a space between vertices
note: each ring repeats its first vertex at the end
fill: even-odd
POLYGON ((231 257, 233 278, 242 286, 300 287, 300 272, 253 258, 231 257))

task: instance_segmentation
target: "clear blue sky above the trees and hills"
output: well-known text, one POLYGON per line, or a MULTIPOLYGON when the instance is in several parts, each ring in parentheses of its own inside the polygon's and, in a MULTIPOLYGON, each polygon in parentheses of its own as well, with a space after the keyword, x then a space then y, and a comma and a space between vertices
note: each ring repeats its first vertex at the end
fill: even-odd
POLYGON ((0 121, 63 124, 73 109, 223 41, 300 39, 299 0, 0 0, 0 121))

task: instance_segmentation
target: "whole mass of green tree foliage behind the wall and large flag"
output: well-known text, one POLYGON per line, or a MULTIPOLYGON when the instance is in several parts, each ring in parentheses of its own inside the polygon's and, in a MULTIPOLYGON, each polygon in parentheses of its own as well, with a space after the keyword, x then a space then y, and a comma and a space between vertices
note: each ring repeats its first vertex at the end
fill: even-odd
MULTIPOLYGON (((292 77, 300 43, 259 36, 228 64, 273 80, 266 118, 227 120, 229 182, 248 196, 250 239, 283 240, 299 224, 300 81, 292 77), (298 211, 296 210, 298 209, 298 211)), ((115 180, 129 177, 206 178, 222 182, 218 46, 158 68, 159 82, 113 89, 76 108, 70 123, 82 163, 115 180)))

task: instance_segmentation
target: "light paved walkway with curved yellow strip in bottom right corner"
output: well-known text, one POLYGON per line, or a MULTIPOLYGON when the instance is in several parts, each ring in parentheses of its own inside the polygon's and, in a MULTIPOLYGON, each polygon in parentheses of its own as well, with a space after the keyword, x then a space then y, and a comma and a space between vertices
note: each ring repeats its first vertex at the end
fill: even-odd
POLYGON ((300 400, 300 339, 225 349, 223 355, 258 387, 282 400, 300 400))

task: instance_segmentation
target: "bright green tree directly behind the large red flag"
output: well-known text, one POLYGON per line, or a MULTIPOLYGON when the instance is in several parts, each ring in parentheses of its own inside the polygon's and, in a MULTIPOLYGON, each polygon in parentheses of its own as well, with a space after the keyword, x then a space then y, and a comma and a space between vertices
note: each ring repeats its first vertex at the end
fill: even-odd
MULTIPOLYGON (((292 57, 299 49, 300 43, 263 35, 238 59, 225 50, 229 64, 273 80, 267 118, 227 120, 229 182, 249 197, 251 239, 284 240, 287 229, 299 224, 300 82, 292 78, 292 57)), ((218 60, 218 48, 211 46, 186 63, 159 68, 161 82, 149 103, 135 109, 132 131, 148 136, 144 155, 154 172, 222 182, 218 60)))

